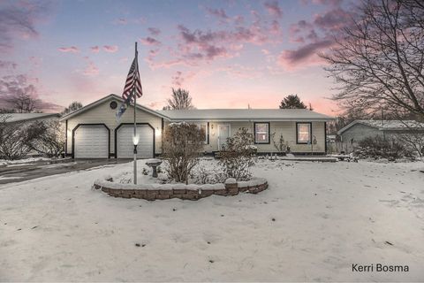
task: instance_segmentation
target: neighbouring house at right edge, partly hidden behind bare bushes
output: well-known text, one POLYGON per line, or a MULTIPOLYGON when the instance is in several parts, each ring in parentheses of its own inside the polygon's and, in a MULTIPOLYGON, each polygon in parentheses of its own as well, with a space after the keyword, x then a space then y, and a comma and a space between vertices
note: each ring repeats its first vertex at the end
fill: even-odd
POLYGON ((424 134, 424 123, 413 120, 355 120, 340 129, 337 134, 341 141, 353 144, 367 137, 381 136, 384 139, 396 138, 398 134, 411 134, 413 132, 424 134))

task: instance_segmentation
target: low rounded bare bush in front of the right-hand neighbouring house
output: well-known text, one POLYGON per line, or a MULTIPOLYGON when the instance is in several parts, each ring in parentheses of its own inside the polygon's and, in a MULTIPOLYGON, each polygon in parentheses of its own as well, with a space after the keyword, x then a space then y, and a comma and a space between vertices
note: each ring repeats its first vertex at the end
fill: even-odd
POLYGON ((407 149, 403 143, 394 139, 385 140, 379 135, 367 137, 358 142, 358 147, 354 149, 353 154, 360 158, 388 158, 389 160, 413 157, 413 151, 407 149))

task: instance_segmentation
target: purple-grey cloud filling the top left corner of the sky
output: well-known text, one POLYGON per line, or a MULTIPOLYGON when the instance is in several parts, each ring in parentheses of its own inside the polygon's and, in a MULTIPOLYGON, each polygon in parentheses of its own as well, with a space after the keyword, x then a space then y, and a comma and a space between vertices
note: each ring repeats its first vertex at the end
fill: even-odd
POLYGON ((9 51, 17 38, 38 36, 35 24, 45 18, 50 10, 45 1, 26 4, 19 1, 2 2, 0 5, 0 50, 9 51))

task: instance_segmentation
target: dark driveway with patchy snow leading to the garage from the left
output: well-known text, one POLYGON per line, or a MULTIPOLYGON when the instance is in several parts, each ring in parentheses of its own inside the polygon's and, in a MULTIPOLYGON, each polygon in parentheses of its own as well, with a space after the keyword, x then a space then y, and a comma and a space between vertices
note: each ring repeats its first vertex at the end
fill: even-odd
POLYGON ((91 170, 99 166, 112 166, 113 164, 130 161, 130 159, 65 159, 62 162, 54 164, 49 161, 29 164, 9 164, 0 167, 0 185, 72 171, 91 170))

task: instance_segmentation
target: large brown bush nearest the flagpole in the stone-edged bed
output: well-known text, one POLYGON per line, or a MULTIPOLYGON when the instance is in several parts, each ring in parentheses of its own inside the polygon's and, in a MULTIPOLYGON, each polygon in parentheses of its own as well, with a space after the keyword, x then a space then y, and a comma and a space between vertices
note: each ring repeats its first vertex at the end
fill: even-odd
POLYGON ((188 183, 193 167, 199 162, 205 133, 185 122, 171 123, 163 134, 163 159, 171 180, 188 183))

